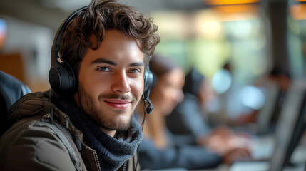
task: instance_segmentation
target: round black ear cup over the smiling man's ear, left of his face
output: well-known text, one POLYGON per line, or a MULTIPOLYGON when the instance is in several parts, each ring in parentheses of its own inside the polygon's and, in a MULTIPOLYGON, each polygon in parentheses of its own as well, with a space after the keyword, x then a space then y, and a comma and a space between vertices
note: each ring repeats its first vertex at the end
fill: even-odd
POLYGON ((58 93, 74 92, 76 90, 76 76, 71 66, 66 62, 56 63, 49 71, 51 88, 58 93))

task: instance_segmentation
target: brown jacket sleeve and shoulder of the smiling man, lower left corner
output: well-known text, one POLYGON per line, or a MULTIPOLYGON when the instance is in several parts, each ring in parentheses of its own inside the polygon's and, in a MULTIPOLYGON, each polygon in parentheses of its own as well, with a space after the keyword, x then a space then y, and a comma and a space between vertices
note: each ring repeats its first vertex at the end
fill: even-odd
POLYGON ((0 138, 0 170, 76 170, 56 133, 36 123, 20 120, 0 138))

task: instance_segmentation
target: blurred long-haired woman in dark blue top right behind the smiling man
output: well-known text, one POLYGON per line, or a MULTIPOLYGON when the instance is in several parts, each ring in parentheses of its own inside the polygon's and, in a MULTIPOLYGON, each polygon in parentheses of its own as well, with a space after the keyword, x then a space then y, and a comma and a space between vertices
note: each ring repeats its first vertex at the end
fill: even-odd
MULTIPOLYGON (((193 139, 172 136, 165 125, 165 116, 183 100, 184 72, 169 58, 153 56, 150 63, 154 75, 150 100, 153 113, 145 115, 143 141, 139 146, 139 162, 143 169, 165 169, 183 167, 188 170, 216 167, 225 162, 249 157, 248 150, 227 149, 214 152, 195 145, 193 139)), ((143 104, 137 108, 138 123, 143 120, 143 104)))

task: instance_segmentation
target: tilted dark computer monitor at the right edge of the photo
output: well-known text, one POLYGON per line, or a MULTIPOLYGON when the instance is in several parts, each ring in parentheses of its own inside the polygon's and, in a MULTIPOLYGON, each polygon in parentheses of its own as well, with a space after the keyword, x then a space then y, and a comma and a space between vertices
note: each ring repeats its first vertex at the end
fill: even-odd
POLYGON ((275 129, 275 150, 270 170, 282 170, 290 164, 295 147, 305 131, 306 83, 292 83, 275 129))

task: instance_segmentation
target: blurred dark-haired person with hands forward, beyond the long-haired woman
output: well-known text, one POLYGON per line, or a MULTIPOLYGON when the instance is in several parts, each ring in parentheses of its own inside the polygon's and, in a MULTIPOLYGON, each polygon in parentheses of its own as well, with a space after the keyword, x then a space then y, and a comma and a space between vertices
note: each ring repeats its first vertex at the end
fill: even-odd
POLYGON ((223 153, 228 148, 246 147, 249 140, 246 133, 240 135, 228 127, 213 128, 208 123, 203 105, 207 99, 206 81, 204 76, 192 68, 185 76, 183 86, 184 99, 166 116, 166 125, 175 135, 189 135, 197 145, 204 145, 223 153))

